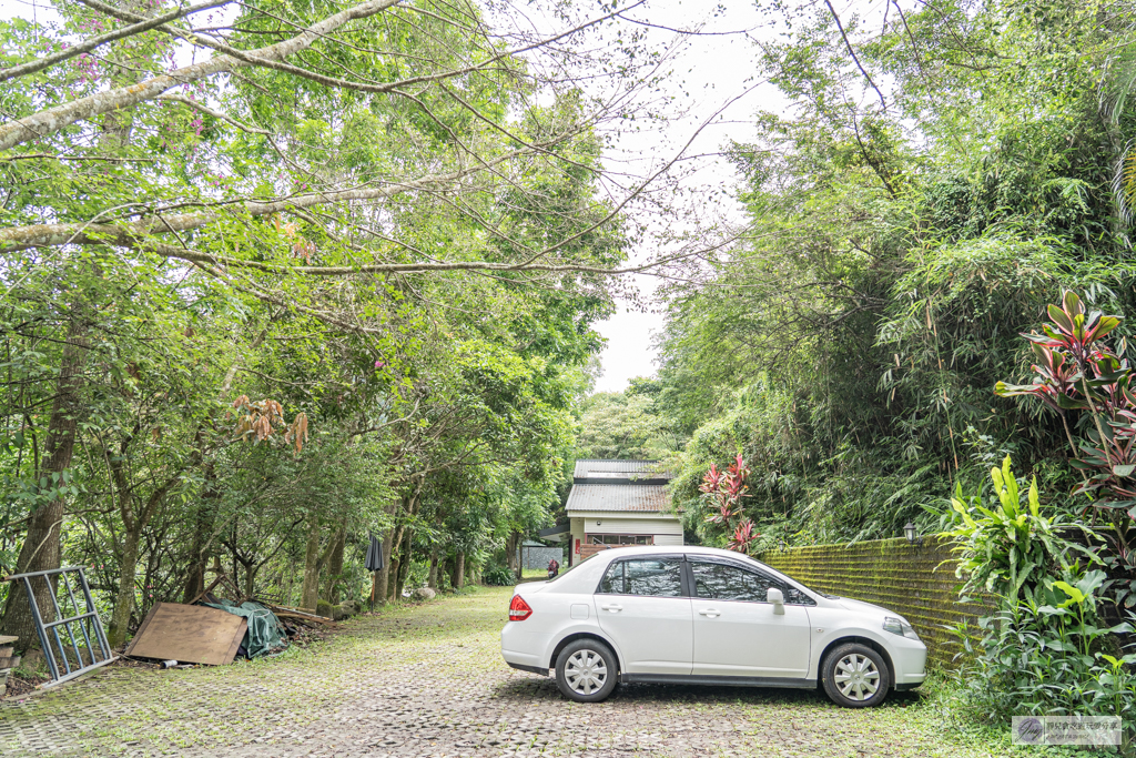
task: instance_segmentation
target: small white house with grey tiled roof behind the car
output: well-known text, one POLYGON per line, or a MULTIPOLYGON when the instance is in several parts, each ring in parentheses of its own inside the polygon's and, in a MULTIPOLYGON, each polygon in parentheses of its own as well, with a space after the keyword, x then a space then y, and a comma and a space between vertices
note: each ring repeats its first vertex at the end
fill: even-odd
POLYGON ((683 544, 670 478, 657 460, 577 460, 565 506, 569 565, 621 544, 683 544))

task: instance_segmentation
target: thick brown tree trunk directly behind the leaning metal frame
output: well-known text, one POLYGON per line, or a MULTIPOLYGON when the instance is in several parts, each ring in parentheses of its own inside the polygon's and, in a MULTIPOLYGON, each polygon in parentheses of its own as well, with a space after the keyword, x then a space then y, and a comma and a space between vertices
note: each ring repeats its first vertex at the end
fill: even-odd
MULTIPOLYGON (((59 365, 59 380, 56 383, 56 400, 48 420, 48 438, 44 445, 47 456, 36 480, 52 474, 62 475, 70 466, 72 453, 75 450, 75 430, 80 414, 80 390, 83 386, 83 367, 86 364, 87 330, 85 318, 76 314, 72 318, 64 343, 62 358, 59 365)), ((16 573, 43 572, 59 568, 60 549, 59 532, 64 518, 64 499, 58 498, 42 503, 33 514, 24 539, 24 545, 16 559, 16 573)), ((33 582, 35 601, 44 622, 55 620, 51 593, 53 582, 33 582)), ((11 634, 19 640, 20 649, 39 647, 35 623, 32 620, 32 607, 25 592, 15 586, 8 592, 8 605, 5 608, 3 623, 0 628, 5 634, 11 634)))

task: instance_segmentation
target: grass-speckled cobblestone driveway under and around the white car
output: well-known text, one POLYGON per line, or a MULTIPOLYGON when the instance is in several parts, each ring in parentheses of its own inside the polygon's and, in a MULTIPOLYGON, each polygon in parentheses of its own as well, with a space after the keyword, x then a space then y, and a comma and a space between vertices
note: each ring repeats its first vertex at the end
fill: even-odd
POLYGON ((602 705, 499 653, 510 590, 364 618, 309 650, 175 672, 110 668, 0 703, 0 755, 987 756, 918 695, 844 710, 812 692, 630 685, 602 705))

